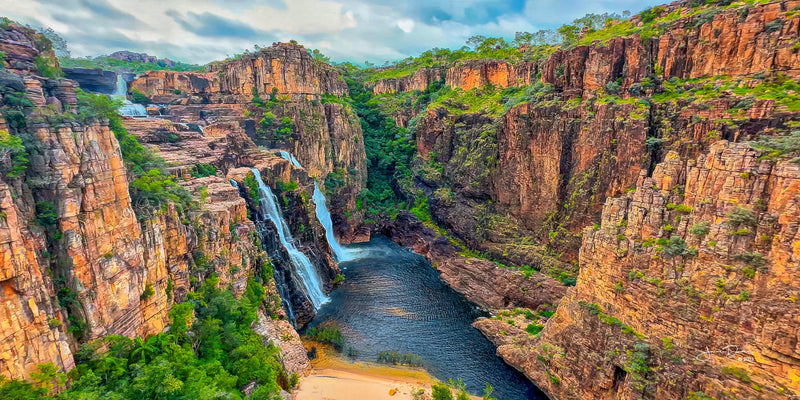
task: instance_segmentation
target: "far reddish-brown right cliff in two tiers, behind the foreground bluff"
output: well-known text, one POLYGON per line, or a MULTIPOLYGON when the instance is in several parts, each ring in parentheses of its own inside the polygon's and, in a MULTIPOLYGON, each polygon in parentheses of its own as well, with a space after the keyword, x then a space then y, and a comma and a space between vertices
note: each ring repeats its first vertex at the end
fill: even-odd
POLYGON ((705 23, 698 15, 687 16, 658 38, 614 38, 558 50, 539 66, 493 60, 453 66, 445 82, 452 87, 524 85, 538 70, 556 94, 501 116, 428 110, 416 129, 422 158, 418 176, 431 189, 434 215, 484 250, 492 246, 488 237, 476 235, 476 225, 490 214, 510 216, 517 229, 576 260, 576 235, 597 221, 603 200, 633 187, 638 171, 651 169, 667 150, 697 156, 719 138, 746 140, 786 120, 785 109, 769 100, 753 100, 743 109, 746 115, 737 116, 743 96, 729 90, 703 101, 673 100, 659 97, 658 87, 676 82, 683 90, 681 85, 704 83, 674 79, 716 74, 750 79, 768 70, 791 79, 798 64, 790 49, 799 34, 800 18, 791 12, 796 6, 783 1, 750 7, 744 14, 722 10, 705 23), (606 91, 609 83, 617 86, 613 94, 606 91), (646 146, 648 137, 659 139, 660 146, 646 146), (437 194, 439 189, 452 195, 437 194), (553 232, 555 240, 548 237, 553 232))

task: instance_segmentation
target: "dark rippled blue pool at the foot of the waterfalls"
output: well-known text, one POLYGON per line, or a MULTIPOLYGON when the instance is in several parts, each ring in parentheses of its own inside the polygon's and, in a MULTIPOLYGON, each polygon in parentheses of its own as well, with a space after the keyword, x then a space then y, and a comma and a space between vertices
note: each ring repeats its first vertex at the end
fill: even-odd
POLYGON ((346 280, 310 326, 333 320, 358 360, 383 350, 422 356, 438 379, 463 379, 473 394, 489 382, 499 399, 546 399, 495 355, 470 324, 485 314, 450 289, 423 257, 386 238, 348 246, 359 258, 340 264, 346 280))

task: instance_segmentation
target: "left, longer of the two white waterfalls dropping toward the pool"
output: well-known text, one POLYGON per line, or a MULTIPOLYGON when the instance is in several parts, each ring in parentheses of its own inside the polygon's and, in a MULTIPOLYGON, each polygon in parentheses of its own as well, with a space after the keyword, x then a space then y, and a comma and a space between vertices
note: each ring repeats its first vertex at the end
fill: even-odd
POLYGON ((292 267, 294 267, 293 270, 299 275, 300 281, 303 283, 303 286, 305 286, 305 294, 308 296, 309 300, 311 300, 314 309, 318 310, 319 307, 328 302, 329 299, 322 291, 322 281, 317 274, 317 270, 314 269, 311 260, 295 247, 294 239, 289 231, 289 226, 286 225, 286 221, 283 219, 283 215, 278 207, 278 199, 272 193, 269 186, 264 184, 264 181, 261 179, 261 172, 256 168, 252 170, 260 190, 259 201, 261 202, 261 208, 267 218, 275 224, 278 231, 278 239, 283 248, 286 249, 286 253, 289 254, 289 261, 292 267))

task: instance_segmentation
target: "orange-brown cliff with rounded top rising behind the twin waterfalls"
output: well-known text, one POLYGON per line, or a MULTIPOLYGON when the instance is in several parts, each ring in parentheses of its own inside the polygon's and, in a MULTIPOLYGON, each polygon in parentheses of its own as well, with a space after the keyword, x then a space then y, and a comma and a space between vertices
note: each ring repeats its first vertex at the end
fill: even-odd
POLYGON ((332 177, 326 189, 334 215, 352 216, 349 223, 334 221, 335 228, 339 236, 353 237, 361 221, 356 198, 366 180, 366 153, 360 121, 340 100, 348 94, 340 74, 289 43, 207 69, 148 72, 131 82, 131 90, 168 104, 165 118, 238 124, 258 145, 292 153, 320 184, 332 177))

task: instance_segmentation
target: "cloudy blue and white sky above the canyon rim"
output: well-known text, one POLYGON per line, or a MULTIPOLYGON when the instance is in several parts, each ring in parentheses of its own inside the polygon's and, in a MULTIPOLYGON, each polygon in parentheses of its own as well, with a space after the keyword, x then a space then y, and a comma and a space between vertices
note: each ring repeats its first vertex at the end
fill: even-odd
POLYGON ((295 39, 333 61, 382 64, 475 34, 513 38, 588 12, 665 0, 0 0, 0 13, 51 27, 73 56, 117 50, 205 64, 295 39))

